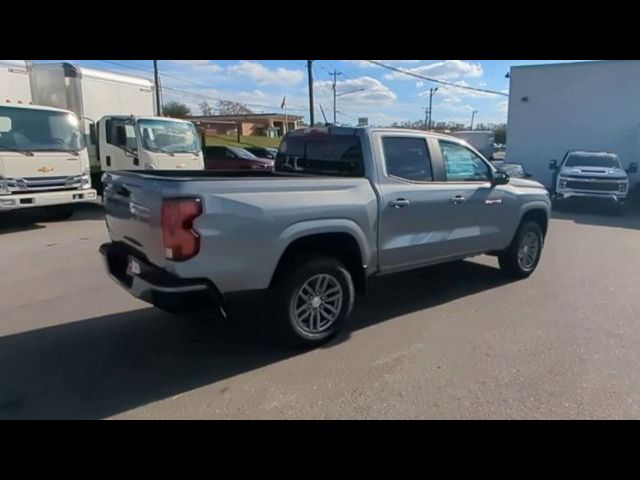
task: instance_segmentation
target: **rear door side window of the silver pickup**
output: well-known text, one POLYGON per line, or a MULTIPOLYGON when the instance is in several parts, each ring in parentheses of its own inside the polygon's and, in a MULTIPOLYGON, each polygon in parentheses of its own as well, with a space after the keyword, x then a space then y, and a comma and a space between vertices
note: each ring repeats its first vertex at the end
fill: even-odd
POLYGON ((382 148, 388 175, 412 182, 433 180, 431 158, 424 138, 384 137, 382 148))

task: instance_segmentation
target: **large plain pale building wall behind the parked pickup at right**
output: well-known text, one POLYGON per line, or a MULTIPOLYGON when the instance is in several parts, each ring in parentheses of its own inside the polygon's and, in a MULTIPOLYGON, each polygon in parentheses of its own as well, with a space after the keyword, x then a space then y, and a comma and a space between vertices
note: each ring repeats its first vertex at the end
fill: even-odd
POLYGON ((613 152, 628 168, 640 161, 640 61, 512 67, 508 115, 507 161, 546 186, 568 150, 613 152))

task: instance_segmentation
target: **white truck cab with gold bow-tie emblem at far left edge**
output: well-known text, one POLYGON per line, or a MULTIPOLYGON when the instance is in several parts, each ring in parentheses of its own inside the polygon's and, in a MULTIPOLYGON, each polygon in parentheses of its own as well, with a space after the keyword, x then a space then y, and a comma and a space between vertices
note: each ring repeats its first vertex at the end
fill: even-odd
POLYGON ((64 218, 96 199, 78 124, 67 110, 0 104, 0 211, 48 207, 64 218))

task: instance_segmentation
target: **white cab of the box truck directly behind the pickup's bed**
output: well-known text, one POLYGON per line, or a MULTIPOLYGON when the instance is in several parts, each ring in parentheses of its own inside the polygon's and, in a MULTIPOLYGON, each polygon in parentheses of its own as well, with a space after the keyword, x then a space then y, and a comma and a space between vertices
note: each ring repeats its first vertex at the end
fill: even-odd
POLYGON ((95 127, 101 170, 203 170, 195 125, 186 120, 105 116, 95 127))

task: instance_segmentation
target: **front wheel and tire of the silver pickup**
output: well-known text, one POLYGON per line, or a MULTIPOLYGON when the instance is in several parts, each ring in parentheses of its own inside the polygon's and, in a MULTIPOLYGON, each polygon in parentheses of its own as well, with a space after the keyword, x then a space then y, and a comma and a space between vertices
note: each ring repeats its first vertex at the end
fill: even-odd
POLYGON ((516 232, 509 247, 498 255, 500 269, 509 278, 522 279, 529 277, 538 266, 544 246, 544 236, 540 225, 533 221, 523 222, 516 232), (531 255, 533 246, 536 253, 531 255), (527 247, 522 250, 524 247, 527 247), (520 258, 519 253, 523 252, 520 258))

